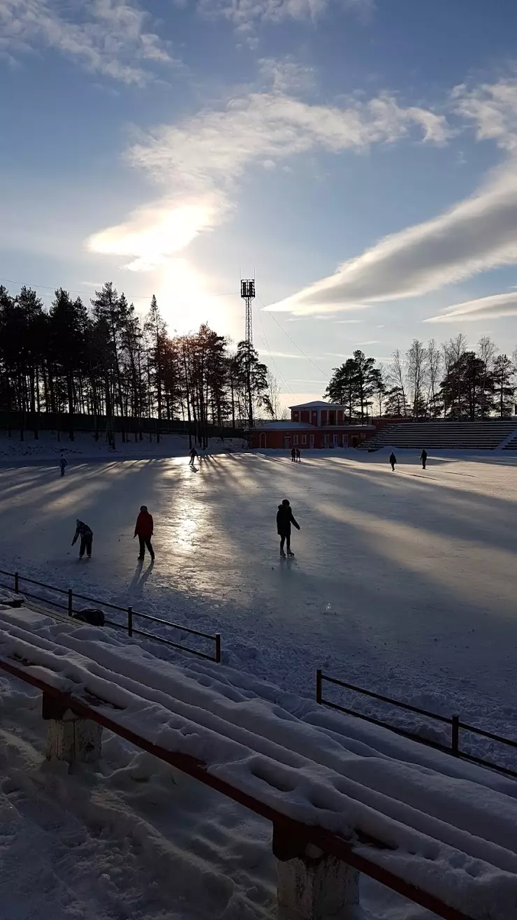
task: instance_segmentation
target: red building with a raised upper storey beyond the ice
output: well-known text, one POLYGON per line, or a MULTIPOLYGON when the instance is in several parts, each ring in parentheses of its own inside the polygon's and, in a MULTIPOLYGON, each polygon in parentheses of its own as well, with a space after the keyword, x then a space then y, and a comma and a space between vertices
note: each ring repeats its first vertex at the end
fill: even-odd
POLYGON ((374 425, 348 425, 344 406, 316 399, 290 406, 291 421, 258 424, 251 432, 251 446, 262 450, 313 450, 328 447, 357 447, 371 437, 374 425))

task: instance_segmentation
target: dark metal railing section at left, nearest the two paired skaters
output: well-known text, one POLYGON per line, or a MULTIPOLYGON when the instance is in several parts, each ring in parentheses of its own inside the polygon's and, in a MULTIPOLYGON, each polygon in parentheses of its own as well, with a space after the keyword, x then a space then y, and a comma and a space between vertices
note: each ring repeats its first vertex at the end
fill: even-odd
MULTIPOLYGON (((190 655, 195 655, 197 658, 204 658, 207 661, 215 661, 217 664, 221 662, 221 635, 220 633, 211 633, 201 632, 199 629, 191 629, 190 627, 181 626, 178 623, 172 623, 170 620, 161 619, 159 616, 152 616, 150 614, 143 614, 140 611, 133 610, 132 606, 121 607, 120 604, 111 604, 109 601, 99 601, 98 598, 89 597, 87 594, 80 594, 79 592, 74 591, 72 588, 56 588, 55 585, 46 584, 44 581, 36 581, 35 579, 28 578, 25 575, 20 575, 19 572, 6 572, 3 569, 0 569, 0 575, 7 576, 8 578, 13 579, 13 583, 8 585, 0 581, 0 588, 4 588, 6 591, 14 592, 19 594, 22 592, 24 595, 27 595, 29 598, 33 598, 36 601, 40 601, 42 604, 52 604, 53 607, 57 607, 60 610, 66 611, 68 616, 73 616, 80 611, 75 607, 75 599, 81 601, 87 601, 90 604, 96 604, 98 609, 102 610, 103 608, 109 607, 110 610, 119 611, 125 616, 124 622, 117 622, 114 619, 109 619, 105 616, 104 622, 109 627, 114 627, 115 629, 123 629, 124 632, 127 632, 128 636, 143 636, 144 638, 152 639, 154 642, 161 642, 163 645, 167 645, 172 649, 178 649, 179 651, 186 651, 190 655), (36 594, 31 590, 27 590, 25 587, 20 589, 21 582, 27 583, 29 585, 36 585, 37 587, 43 588, 45 591, 52 592, 54 594, 64 595, 66 598, 66 603, 62 604, 59 601, 56 601, 53 597, 41 597, 41 594, 36 594), (213 642, 213 654, 208 654, 206 651, 201 651, 198 649, 192 649, 188 645, 182 645, 181 642, 175 642, 172 639, 164 638, 163 636, 158 636, 153 632, 148 632, 145 629, 139 629, 134 625, 134 618, 140 617, 140 619, 146 620, 151 623, 159 623, 161 626, 169 627, 170 629, 176 629, 179 633, 187 633, 189 636, 196 636, 197 638, 207 639, 210 642, 213 642)), ((48 611, 52 615, 52 611, 48 611)))

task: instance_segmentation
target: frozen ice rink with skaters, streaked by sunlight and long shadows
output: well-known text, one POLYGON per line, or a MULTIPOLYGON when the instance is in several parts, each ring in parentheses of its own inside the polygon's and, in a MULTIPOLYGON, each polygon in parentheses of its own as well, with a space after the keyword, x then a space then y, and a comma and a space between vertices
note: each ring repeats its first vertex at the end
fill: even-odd
MULTIPOLYGON (((517 458, 276 454, 0 467, 1 568, 218 628, 227 661, 311 692, 345 680, 517 726, 517 458), (289 498, 296 558, 279 558, 289 498), (137 563, 139 506, 155 566, 137 563), (94 531, 90 561, 70 546, 94 531), (43 577, 44 576, 44 577, 43 577), (106 593, 104 596, 108 596, 106 593)), ((495 723, 491 723, 495 724, 495 723)))

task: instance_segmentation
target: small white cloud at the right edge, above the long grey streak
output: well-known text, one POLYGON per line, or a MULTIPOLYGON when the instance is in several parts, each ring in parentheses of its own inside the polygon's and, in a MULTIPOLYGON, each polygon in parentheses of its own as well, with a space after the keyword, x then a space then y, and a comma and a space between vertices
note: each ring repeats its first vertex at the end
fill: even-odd
POLYGON ((476 126, 477 140, 492 140, 504 150, 517 148, 517 79, 483 83, 469 89, 455 86, 454 111, 476 126))

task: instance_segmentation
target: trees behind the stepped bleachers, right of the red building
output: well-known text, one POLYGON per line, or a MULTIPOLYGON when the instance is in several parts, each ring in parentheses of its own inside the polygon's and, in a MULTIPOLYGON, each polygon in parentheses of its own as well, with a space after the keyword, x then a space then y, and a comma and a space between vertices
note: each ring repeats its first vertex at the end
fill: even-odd
POLYGON ((517 349, 511 357, 483 336, 469 349, 463 333, 442 344, 413 339, 387 365, 362 351, 333 368, 325 396, 349 420, 373 416, 415 419, 510 418, 517 393, 517 349))

